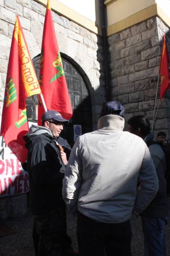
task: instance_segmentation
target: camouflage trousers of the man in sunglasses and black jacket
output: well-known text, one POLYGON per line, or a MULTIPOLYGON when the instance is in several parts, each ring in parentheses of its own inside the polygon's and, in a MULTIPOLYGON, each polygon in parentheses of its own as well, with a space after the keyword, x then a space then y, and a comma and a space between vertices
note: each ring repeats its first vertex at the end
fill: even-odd
POLYGON ((34 221, 39 235, 38 256, 64 256, 71 246, 66 229, 65 206, 35 215, 34 221))

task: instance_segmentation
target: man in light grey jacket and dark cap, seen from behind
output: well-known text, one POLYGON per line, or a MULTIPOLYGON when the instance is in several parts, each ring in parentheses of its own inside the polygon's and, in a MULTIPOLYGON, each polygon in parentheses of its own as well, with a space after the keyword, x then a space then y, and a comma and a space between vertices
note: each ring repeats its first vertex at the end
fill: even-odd
POLYGON ((77 211, 80 256, 130 256, 131 214, 158 190, 150 152, 140 137, 123 132, 123 115, 119 102, 106 103, 98 130, 80 136, 70 154, 63 198, 69 212, 77 211))

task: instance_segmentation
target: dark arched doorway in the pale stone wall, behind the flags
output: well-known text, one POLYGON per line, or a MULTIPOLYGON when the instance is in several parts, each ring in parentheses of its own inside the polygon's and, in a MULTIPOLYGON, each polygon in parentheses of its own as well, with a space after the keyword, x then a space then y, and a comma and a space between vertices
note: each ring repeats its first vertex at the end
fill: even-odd
MULTIPOLYGON (((73 116, 64 129, 61 136, 66 138, 70 145, 74 144, 74 124, 79 124, 82 127, 82 134, 92 131, 92 109, 91 109, 91 98, 88 88, 85 84, 83 77, 78 72, 77 68, 66 60, 66 55, 61 53, 63 68, 65 72, 65 77, 68 85, 68 92, 71 99, 71 104, 73 107, 73 116)), ((39 77, 39 65, 40 54, 34 57, 33 64, 39 77)), ((32 122, 37 121, 37 109, 38 109, 38 98, 37 96, 32 96, 27 98, 27 116, 28 120, 32 122)))

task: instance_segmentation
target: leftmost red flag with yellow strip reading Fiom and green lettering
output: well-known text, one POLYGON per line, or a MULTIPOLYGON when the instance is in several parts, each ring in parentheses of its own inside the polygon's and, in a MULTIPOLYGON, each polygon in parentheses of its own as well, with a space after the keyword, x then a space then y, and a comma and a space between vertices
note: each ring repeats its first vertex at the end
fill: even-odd
POLYGON ((8 61, 0 135, 21 162, 27 159, 23 140, 28 132, 26 97, 40 93, 39 82, 17 16, 8 61))

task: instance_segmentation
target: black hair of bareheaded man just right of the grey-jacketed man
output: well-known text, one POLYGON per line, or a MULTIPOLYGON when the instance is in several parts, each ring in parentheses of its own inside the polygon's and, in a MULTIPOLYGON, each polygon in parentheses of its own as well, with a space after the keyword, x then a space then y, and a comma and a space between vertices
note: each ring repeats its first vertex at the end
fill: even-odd
POLYGON ((146 136, 150 132, 150 122, 144 115, 135 115, 132 116, 127 124, 131 125, 134 130, 140 128, 140 132, 142 136, 146 136))

